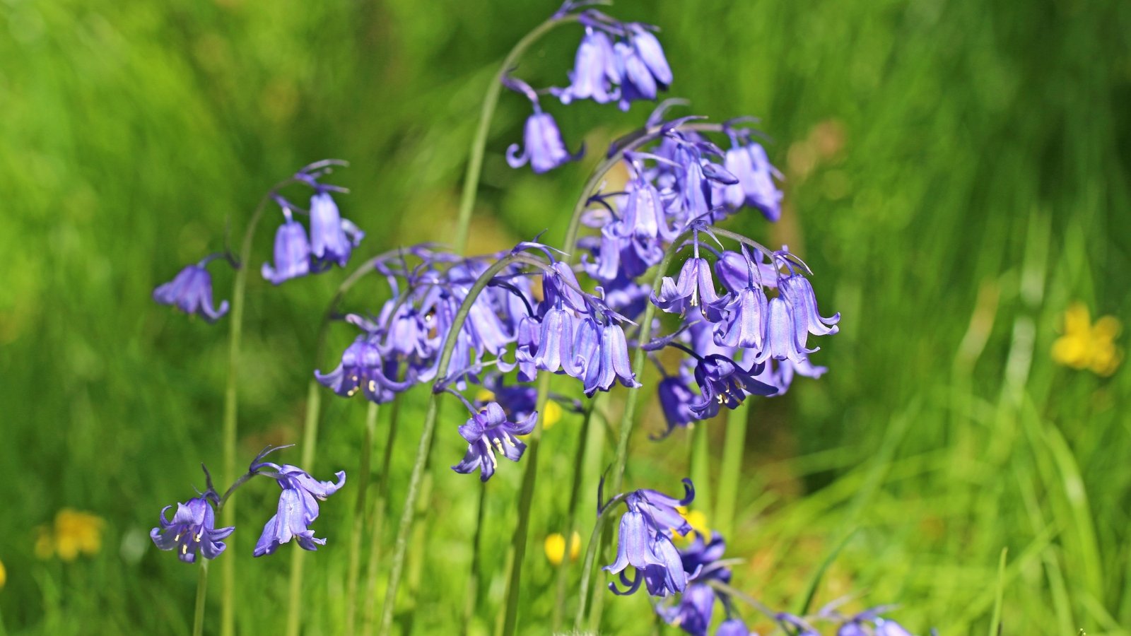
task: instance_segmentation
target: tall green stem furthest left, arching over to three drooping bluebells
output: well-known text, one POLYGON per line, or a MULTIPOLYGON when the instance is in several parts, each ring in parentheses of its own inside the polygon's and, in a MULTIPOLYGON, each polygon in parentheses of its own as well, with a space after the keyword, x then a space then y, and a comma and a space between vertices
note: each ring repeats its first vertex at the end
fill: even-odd
MULTIPOLYGON (((228 350, 227 350, 227 386, 224 390, 224 422, 221 427, 221 439, 224 446, 224 481, 231 483, 235 481, 236 469, 236 415, 239 412, 239 399, 236 394, 238 376, 240 372, 240 340, 243 335, 243 300, 248 287, 248 268, 251 260, 251 242, 256 235, 256 227, 264 216, 267 201, 271 195, 293 182, 294 179, 280 181, 271 188, 259 205, 256 206, 251 220, 248 221, 248 229, 243 232, 243 242, 240 244, 240 264, 235 270, 235 280, 232 284, 232 316, 230 323, 228 350)), ((230 505, 226 514, 221 519, 226 525, 235 525, 235 506, 230 505)), ((235 633, 235 559, 224 559, 221 567, 221 634, 232 636, 235 633)))

